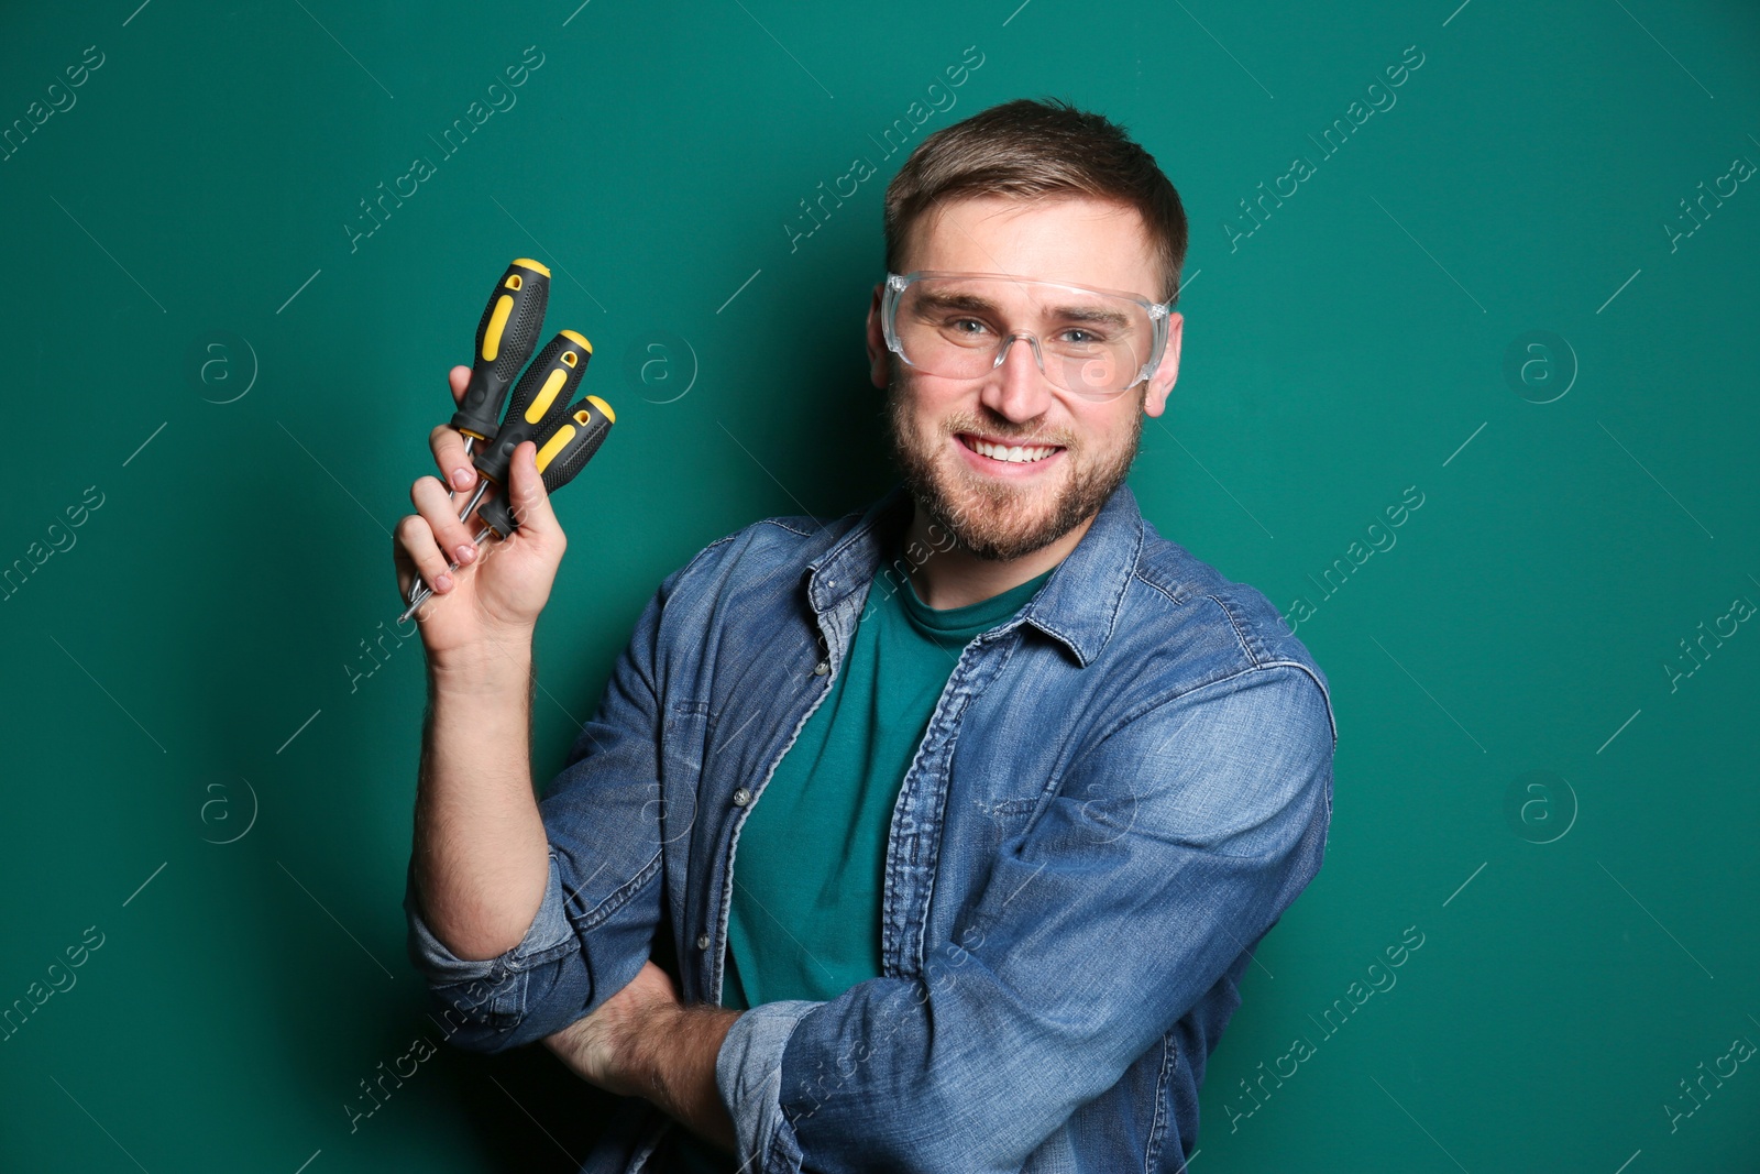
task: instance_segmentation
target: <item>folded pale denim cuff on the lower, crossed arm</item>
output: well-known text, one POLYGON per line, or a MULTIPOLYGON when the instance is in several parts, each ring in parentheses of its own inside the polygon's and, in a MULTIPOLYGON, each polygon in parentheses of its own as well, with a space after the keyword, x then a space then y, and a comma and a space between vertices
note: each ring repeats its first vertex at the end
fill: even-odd
POLYGON ((794 1126, 781 1114, 781 1053, 796 1024, 818 1007, 806 1000, 762 1003, 734 1019, 722 1042, 715 1084, 734 1119, 741 1169, 801 1169, 794 1126))

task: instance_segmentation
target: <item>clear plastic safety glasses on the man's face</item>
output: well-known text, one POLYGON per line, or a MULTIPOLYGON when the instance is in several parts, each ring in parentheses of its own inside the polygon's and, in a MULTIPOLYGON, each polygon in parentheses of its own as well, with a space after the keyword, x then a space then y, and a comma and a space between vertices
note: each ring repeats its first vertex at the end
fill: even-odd
POLYGON ((1052 385, 1112 400, 1162 363, 1172 305, 1005 273, 917 271, 887 273, 882 317, 887 349, 926 375, 980 378, 1024 338, 1052 385))

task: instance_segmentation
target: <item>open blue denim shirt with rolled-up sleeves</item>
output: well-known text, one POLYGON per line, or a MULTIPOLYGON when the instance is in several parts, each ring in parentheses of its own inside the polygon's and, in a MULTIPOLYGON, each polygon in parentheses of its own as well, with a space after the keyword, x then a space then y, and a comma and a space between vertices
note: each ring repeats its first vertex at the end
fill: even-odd
MULTIPOLYGON (((894 488, 771 517, 648 602, 540 813, 549 887, 465 961, 405 896, 451 1040, 530 1044, 649 952, 716 1003, 739 827, 850 648, 894 488)), ((746 1170, 1179 1170, 1253 947, 1320 869, 1338 729, 1271 602, 1121 486, 1033 600, 973 639, 892 811, 884 973, 734 1021, 716 1084, 746 1170)), ((584 1170, 655 1170, 646 1102, 584 1170)))

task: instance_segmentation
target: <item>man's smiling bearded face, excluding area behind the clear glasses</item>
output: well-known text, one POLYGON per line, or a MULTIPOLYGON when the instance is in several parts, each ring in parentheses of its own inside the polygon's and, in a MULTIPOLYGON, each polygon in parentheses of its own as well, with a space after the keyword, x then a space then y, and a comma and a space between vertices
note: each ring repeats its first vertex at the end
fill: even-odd
MULTIPOLYGON (((1091 199, 945 201, 913 232, 906 271, 1007 273, 1160 299, 1155 257, 1135 209, 1091 199)), ((1169 320, 1155 375, 1109 401, 1047 382, 1024 341, 980 378, 942 378, 887 350, 880 290, 868 313, 871 378, 887 389, 905 484, 957 544, 1014 560, 1056 542, 1105 503, 1130 472, 1142 414, 1160 415, 1179 370, 1181 315, 1169 320), (973 442, 1049 445, 1037 461, 1000 461, 973 442)), ((1016 329, 1030 329, 1021 326, 1016 329)))

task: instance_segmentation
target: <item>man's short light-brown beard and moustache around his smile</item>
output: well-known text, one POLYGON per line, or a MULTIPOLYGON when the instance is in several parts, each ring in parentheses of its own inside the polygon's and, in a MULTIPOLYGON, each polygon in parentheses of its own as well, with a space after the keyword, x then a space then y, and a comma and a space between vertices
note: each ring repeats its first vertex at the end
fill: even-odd
MULTIPOLYGON (((942 419, 936 431, 924 437, 910 405, 910 384, 896 359, 892 356, 892 380, 887 384, 892 458, 917 505, 954 537, 959 549, 977 558, 1008 561, 1056 542, 1105 505, 1125 484, 1125 475, 1137 459, 1142 440, 1140 410, 1132 414, 1130 440, 1114 452, 1091 452, 1067 431, 1023 431, 984 405, 977 412, 956 412, 942 419), (1061 475, 1061 489, 1047 500, 1047 486, 980 479, 959 465, 957 458, 949 461, 956 454, 949 454, 947 445, 961 444, 954 437, 961 431, 1063 445, 1068 472, 1061 475)), ((1144 385, 1137 398, 1139 408, 1146 394, 1144 385)))

